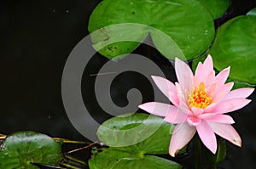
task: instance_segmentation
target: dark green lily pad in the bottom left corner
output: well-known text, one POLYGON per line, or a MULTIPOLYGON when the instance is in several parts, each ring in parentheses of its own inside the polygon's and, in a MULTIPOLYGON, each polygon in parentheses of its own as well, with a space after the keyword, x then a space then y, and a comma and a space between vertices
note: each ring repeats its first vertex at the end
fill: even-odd
POLYGON ((31 162, 55 166, 61 158, 61 144, 38 132, 10 134, 0 148, 0 168, 6 169, 37 169, 31 162))

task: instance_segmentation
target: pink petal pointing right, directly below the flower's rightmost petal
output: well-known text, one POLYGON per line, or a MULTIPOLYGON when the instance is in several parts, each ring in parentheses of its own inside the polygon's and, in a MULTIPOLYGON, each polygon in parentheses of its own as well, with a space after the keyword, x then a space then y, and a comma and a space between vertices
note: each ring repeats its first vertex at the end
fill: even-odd
POLYGON ((250 99, 229 99, 219 102, 209 112, 215 114, 224 114, 231 111, 239 110, 251 102, 250 99))

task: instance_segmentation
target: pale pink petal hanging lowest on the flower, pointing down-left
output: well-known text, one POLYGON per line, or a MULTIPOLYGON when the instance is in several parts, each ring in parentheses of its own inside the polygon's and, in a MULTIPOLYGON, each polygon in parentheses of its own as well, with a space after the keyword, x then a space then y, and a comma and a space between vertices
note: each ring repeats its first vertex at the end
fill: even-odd
POLYGON ((195 135, 195 131, 195 127, 190 127, 188 123, 177 124, 172 133, 169 147, 170 155, 174 157, 179 149, 182 149, 186 144, 188 144, 191 138, 195 135))

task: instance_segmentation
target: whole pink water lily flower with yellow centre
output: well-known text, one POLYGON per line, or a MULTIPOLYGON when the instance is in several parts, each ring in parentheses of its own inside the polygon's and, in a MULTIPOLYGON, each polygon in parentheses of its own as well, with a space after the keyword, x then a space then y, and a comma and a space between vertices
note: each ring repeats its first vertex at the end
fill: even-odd
POLYGON ((160 76, 152 76, 157 87, 172 104, 149 102, 139 108, 153 115, 164 116, 164 121, 177 124, 169 147, 169 153, 175 156, 179 149, 189 143, 198 133, 203 144, 216 153, 218 136, 241 146, 241 138, 236 132, 230 115, 226 113, 239 110, 251 100, 246 99, 253 88, 231 90, 233 82, 225 83, 230 67, 215 76, 212 57, 197 65, 195 75, 180 59, 175 59, 177 81, 175 84, 160 76))

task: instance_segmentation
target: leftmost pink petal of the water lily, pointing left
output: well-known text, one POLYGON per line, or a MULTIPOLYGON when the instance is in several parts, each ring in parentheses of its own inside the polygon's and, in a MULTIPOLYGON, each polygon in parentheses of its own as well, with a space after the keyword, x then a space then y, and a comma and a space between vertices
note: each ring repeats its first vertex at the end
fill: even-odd
POLYGON ((158 102, 148 102, 146 104, 140 104, 138 107, 150 114, 159 116, 166 116, 168 113, 177 111, 177 107, 171 104, 163 104, 158 102))

